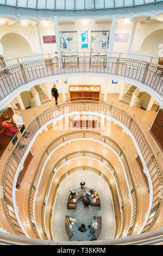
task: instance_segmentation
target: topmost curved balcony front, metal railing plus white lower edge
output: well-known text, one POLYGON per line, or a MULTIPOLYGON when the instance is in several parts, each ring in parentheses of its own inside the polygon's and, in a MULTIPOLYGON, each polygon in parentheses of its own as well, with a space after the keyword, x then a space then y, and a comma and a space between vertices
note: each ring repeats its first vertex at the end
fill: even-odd
POLYGON ((162 106, 162 66, 153 63, 158 63, 156 58, 148 57, 148 62, 139 58, 142 56, 135 54, 128 58, 128 54, 123 53, 108 53, 108 56, 83 53, 74 57, 47 54, 32 57, 33 60, 28 62, 23 62, 22 58, 3 61, 0 63, 3 67, 0 70, 0 108, 35 84, 63 77, 88 75, 129 82, 153 96, 162 106))

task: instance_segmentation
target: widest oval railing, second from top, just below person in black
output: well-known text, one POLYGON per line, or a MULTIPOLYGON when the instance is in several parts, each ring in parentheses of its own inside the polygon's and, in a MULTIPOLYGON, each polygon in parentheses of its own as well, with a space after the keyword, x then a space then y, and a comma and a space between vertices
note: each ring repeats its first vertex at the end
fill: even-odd
MULTIPOLYGON (((99 113, 105 114, 105 117, 110 117, 112 120, 117 120, 122 125, 126 126, 126 128, 133 135, 137 146, 139 147, 142 157, 146 163, 148 168, 148 172, 151 176, 151 181, 153 184, 153 198, 152 198, 152 208, 149 212, 149 217, 145 227, 143 228, 143 232, 150 230, 153 223, 158 216, 158 212, 161 206, 162 199, 159 197, 160 186, 162 186, 162 169, 156 160, 156 157, 153 153, 152 148, 148 144, 148 141, 141 131, 141 128, 134 120, 134 117, 124 110, 111 105, 109 103, 97 102, 97 101, 76 101, 74 102, 65 102, 60 105, 51 106, 44 111, 40 111, 40 113, 35 113, 29 122, 29 125, 26 129, 29 132, 29 137, 25 140, 23 137, 18 139, 17 143, 21 143, 26 145, 23 149, 17 148, 17 143, 12 148, 8 148, 5 151, 1 159, 0 166, 3 168, 3 174, 1 179, 1 185, 3 187, 3 199, 2 204, 4 207, 4 212, 8 218, 10 226, 12 230, 14 230, 17 235, 24 235, 20 225, 17 222, 16 218, 16 209, 13 203, 12 191, 15 190, 15 175, 17 174, 16 170, 20 163, 22 162, 22 158, 26 153, 26 148, 28 146, 31 147, 31 141, 36 133, 41 129, 41 127, 48 122, 52 122, 54 118, 57 118, 58 111, 62 114, 68 115, 77 112, 93 112, 95 115, 99 113)), ((24 131, 25 132, 25 131, 24 131)))

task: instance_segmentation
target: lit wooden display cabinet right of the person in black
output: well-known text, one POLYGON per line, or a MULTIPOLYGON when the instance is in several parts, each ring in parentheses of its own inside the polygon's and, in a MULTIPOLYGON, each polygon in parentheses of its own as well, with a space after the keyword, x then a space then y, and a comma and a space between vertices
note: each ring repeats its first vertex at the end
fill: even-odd
POLYGON ((68 88, 71 101, 92 100, 99 101, 99 93, 101 93, 100 85, 70 85, 68 88))

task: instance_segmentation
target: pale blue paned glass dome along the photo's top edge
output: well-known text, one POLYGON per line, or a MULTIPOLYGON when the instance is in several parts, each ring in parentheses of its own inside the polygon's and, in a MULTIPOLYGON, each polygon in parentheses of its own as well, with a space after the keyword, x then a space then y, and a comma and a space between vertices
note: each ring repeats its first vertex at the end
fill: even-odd
POLYGON ((0 5, 39 10, 99 10, 154 4, 162 0, 0 0, 0 5))

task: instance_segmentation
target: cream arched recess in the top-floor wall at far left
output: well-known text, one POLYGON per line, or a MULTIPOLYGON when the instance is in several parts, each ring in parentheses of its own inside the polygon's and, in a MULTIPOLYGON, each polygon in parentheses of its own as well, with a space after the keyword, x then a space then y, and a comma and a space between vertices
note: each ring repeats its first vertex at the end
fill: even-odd
POLYGON ((23 57, 25 54, 32 53, 29 42, 19 33, 3 35, 1 44, 3 45, 5 56, 9 57, 9 59, 23 57))

